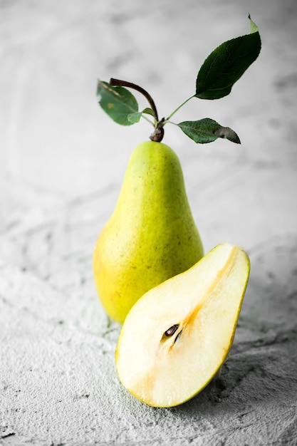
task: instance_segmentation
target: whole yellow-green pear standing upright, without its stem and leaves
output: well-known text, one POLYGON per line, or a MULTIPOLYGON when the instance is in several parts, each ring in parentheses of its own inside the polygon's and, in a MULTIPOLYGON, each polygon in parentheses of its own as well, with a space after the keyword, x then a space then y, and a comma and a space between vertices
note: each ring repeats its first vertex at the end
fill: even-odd
POLYGON ((179 158, 162 142, 133 150, 115 210, 93 253, 93 274, 108 315, 123 323, 146 291, 203 255, 179 158))

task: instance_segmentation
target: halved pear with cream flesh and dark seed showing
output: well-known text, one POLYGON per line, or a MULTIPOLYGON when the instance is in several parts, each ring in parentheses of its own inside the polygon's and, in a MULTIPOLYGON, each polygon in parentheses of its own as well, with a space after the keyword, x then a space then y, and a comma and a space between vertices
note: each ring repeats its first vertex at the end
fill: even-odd
POLYGON ((230 351, 249 270, 246 252, 219 244, 132 306, 115 351, 120 381, 132 395, 172 407, 207 386, 230 351))

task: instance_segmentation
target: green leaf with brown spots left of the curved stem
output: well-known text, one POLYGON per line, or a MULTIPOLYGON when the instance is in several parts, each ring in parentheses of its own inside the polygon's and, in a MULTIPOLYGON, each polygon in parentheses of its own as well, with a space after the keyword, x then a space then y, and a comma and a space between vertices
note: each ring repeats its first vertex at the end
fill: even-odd
POLYGON ((129 115, 138 112, 138 104, 135 97, 124 87, 113 87, 107 82, 98 81, 97 95, 100 96, 101 108, 120 125, 132 125, 129 115))

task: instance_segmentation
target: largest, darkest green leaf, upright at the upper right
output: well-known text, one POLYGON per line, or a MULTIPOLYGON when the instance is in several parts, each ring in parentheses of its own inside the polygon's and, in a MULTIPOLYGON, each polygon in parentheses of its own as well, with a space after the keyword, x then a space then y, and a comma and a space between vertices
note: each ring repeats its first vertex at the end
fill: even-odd
POLYGON ((234 83, 256 61, 261 51, 258 27, 250 21, 250 33, 222 43, 207 57, 196 81, 196 98, 219 99, 229 95, 234 83))

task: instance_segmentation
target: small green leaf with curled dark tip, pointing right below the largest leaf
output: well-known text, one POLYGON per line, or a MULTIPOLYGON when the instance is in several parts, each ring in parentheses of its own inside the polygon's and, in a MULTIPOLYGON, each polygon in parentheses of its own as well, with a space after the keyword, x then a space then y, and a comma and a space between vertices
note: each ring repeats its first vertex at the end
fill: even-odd
POLYGON ((198 121, 184 121, 177 125, 189 138, 200 144, 213 142, 217 138, 226 138, 236 144, 240 144, 239 137, 234 130, 229 127, 222 127, 217 121, 210 118, 198 121))

